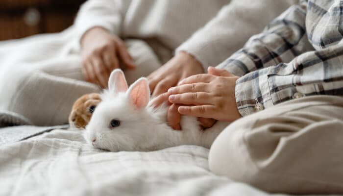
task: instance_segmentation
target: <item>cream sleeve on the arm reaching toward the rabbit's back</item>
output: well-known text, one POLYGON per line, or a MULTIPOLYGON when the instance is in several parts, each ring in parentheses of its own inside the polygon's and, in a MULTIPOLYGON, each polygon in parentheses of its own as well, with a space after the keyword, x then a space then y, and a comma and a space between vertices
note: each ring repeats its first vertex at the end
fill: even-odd
POLYGON ((207 70, 208 66, 218 65, 241 49, 250 36, 261 32, 270 20, 291 4, 293 0, 232 0, 176 52, 191 53, 207 70))

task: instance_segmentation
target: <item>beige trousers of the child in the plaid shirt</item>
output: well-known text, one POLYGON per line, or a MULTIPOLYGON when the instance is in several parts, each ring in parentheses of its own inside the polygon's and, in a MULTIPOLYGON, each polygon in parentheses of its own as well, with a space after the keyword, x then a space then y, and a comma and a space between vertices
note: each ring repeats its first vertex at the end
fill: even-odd
POLYGON ((343 193, 343 98, 298 98, 246 116, 219 135, 209 165, 268 192, 343 193))

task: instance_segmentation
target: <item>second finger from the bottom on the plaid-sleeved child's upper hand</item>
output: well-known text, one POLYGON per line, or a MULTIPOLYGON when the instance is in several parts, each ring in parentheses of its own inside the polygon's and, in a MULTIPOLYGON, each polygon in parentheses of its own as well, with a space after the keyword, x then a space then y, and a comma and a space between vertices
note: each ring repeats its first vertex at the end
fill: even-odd
POLYGON ((178 103, 184 105, 204 105, 210 104, 212 100, 212 95, 204 92, 197 93, 183 93, 178 95, 169 96, 169 101, 171 103, 178 103))

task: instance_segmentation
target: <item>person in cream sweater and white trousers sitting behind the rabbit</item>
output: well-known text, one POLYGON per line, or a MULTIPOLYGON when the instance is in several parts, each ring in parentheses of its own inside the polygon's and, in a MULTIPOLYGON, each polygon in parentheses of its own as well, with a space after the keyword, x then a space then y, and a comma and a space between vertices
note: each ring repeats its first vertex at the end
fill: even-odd
POLYGON ((220 63, 293 1, 88 0, 62 33, 0 43, 0 110, 68 123, 73 102, 119 67, 129 83, 148 75, 156 96, 220 63))

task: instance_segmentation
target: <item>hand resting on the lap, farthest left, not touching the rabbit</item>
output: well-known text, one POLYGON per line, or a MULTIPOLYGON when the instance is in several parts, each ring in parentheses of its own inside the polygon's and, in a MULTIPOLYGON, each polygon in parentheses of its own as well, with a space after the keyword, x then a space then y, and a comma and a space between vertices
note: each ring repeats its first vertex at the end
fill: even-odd
POLYGON ((134 69, 133 59, 123 40, 101 27, 88 30, 81 39, 82 73, 88 82, 107 87, 112 70, 120 68, 120 61, 128 69, 134 69))

